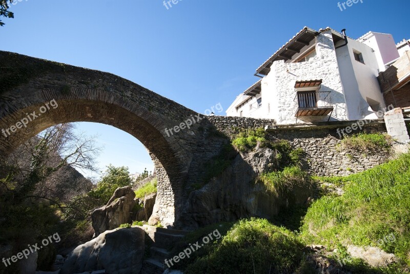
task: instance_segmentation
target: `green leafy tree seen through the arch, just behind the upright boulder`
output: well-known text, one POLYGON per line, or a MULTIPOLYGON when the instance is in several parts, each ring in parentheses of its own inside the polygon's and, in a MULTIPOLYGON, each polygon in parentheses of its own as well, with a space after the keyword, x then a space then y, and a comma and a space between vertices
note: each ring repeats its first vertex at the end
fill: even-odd
POLYGON ((99 199, 106 204, 117 188, 131 186, 131 177, 128 167, 114 167, 109 165, 105 175, 98 182, 97 186, 91 190, 88 195, 92 198, 99 199))

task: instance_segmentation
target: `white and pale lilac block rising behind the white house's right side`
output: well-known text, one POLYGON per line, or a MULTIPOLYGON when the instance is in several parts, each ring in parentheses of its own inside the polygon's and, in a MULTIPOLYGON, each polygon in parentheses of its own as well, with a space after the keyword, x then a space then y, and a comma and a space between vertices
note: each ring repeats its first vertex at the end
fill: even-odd
POLYGON ((385 64, 400 57, 391 34, 369 32, 359 38, 359 42, 374 50, 380 72, 386 70, 385 64))

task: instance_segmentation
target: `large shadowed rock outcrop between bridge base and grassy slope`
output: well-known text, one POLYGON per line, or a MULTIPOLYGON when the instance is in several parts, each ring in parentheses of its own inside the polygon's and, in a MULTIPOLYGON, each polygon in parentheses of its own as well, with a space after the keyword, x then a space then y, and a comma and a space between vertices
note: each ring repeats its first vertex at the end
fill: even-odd
MULTIPOLYGON (((255 178, 272 171, 276 166, 276 152, 257 148, 250 153, 238 154, 232 164, 199 190, 189 194, 181 223, 187 229, 196 229, 219 221, 259 217, 270 219, 291 205, 308 203, 313 190, 295 185, 288 195, 276 195, 255 178)), ((182 226, 182 225, 181 225, 182 226)))

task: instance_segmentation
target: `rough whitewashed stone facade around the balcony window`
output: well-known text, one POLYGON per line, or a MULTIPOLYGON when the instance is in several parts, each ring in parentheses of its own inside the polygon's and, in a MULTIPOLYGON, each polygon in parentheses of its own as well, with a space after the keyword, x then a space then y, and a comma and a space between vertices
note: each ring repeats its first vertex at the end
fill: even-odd
MULTIPOLYGON (((278 124, 293 124, 296 122, 295 112, 298 108, 294 101, 296 96, 295 83, 300 80, 322 79, 319 92, 331 92, 334 111, 331 121, 347 120, 343 87, 339 75, 335 48, 331 31, 324 31, 316 37, 316 55, 307 62, 285 63, 276 61, 271 66, 271 72, 265 77, 267 85, 262 84, 262 96, 269 94, 265 102, 271 103, 273 119, 278 124)), ((262 81, 263 82, 263 81, 262 81)), ((298 123, 327 121, 325 116, 299 117, 298 123)))

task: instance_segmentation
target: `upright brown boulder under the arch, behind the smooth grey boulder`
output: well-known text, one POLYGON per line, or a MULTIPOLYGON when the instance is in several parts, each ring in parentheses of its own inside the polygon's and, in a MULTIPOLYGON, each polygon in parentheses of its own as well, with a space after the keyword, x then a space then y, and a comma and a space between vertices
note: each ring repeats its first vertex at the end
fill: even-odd
POLYGON ((131 222, 131 214, 136 202, 135 193, 131 187, 118 188, 104 207, 96 209, 91 214, 92 225, 98 236, 107 230, 116 229, 123 223, 131 222))

